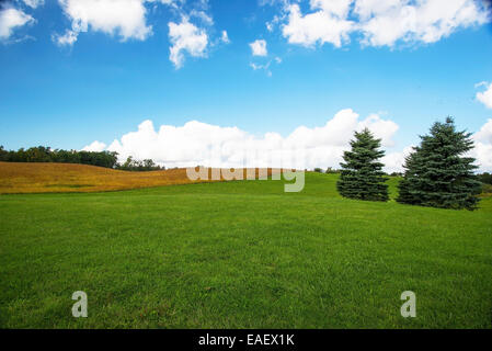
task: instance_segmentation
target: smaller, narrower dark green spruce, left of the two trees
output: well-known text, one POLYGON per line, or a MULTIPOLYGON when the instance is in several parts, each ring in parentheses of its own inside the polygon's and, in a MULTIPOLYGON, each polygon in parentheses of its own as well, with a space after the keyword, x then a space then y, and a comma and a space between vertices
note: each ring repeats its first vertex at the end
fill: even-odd
POLYGON ((385 155, 379 150, 381 139, 376 139, 369 129, 355 132, 351 140, 351 151, 343 154, 344 163, 336 183, 339 193, 344 197, 388 201, 387 178, 381 171, 384 165, 378 161, 385 155))

